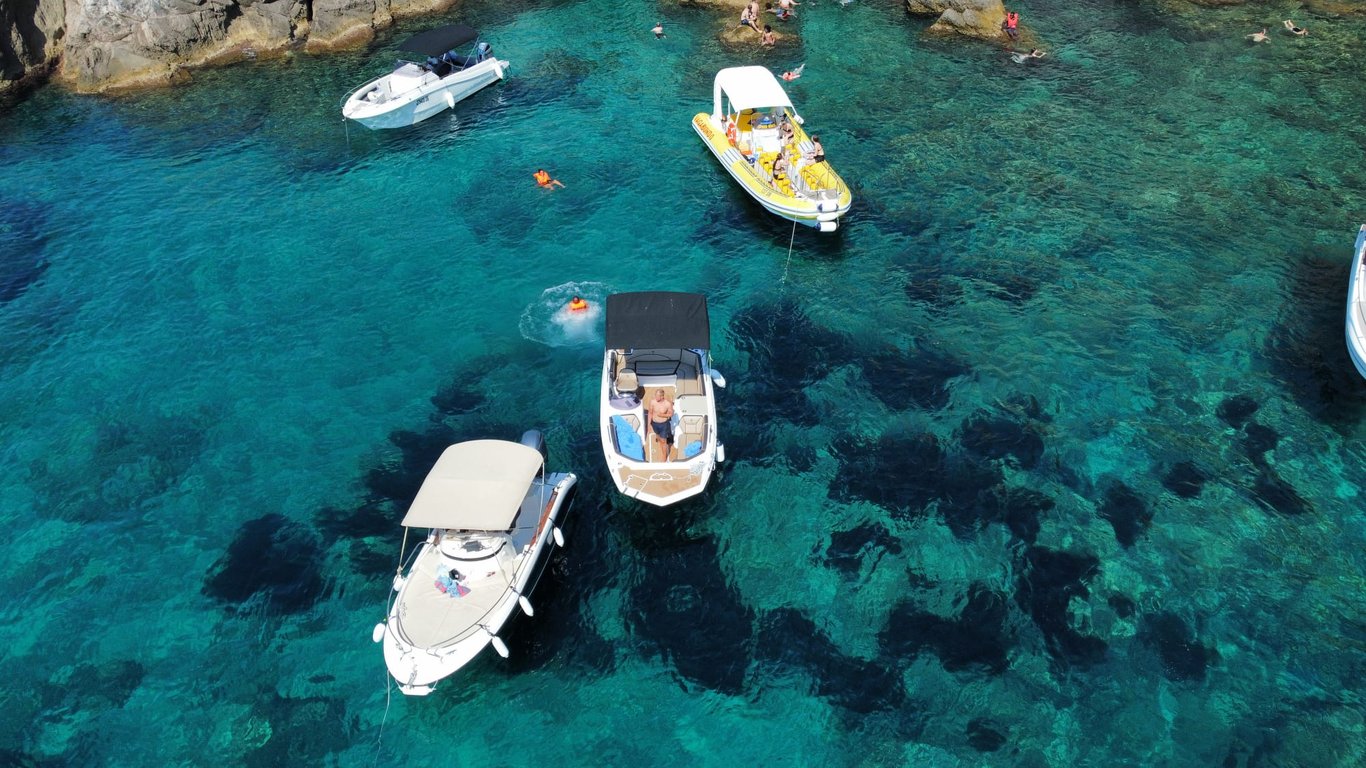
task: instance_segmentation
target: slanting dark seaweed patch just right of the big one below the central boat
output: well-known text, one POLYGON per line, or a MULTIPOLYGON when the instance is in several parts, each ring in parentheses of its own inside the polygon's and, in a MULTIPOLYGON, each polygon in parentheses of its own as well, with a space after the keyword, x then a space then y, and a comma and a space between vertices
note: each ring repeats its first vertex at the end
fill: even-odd
POLYGON ((759 620, 755 657, 805 670, 816 678, 818 696, 856 715, 896 709, 906 698, 896 670, 846 656, 811 619, 792 608, 770 611, 759 620))

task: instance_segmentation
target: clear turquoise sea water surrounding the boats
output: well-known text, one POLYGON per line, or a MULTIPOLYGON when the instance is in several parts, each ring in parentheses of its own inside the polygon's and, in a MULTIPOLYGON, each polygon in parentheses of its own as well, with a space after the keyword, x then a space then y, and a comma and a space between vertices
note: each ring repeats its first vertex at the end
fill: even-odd
POLYGON ((448 18, 512 77, 413 130, 337 100, 432 19, 0 116, 3 763, 1366 763, 1366 18, 1020 10, 1029 66, 891 0, 772 52, 481 1, 448 18), (688 126, 717 68, 800 61, 835 235, 688 126), (667 511, 612 492, 556 313, 654 288, 709 295, 729 380, 667 511), (510 660, 406 700, 398 521, 531 426, 568 548, 510 660))

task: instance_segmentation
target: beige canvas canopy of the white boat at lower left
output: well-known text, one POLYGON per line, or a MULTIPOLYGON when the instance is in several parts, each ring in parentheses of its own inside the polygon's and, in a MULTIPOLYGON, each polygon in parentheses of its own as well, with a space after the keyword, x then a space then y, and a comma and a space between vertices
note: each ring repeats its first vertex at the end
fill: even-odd
POLYGON ((507 530, 540 469, 541 452, 520 443, 456 443, 422 481, 403 525, 507 530))

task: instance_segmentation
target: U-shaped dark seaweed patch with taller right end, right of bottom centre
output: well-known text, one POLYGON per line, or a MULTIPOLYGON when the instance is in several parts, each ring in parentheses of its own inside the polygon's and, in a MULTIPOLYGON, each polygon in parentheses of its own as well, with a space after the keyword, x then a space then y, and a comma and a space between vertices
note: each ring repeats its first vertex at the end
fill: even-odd
POLYGON ((1005 616, 1005 596, 974 584, 963 611, 952 619, 921 611, 911 601, 899 604, 878 633, 878 644, 899 659, 930 649, 951 672, 981 668, 999 675, 1009 666, 1012 645, 1005 616))

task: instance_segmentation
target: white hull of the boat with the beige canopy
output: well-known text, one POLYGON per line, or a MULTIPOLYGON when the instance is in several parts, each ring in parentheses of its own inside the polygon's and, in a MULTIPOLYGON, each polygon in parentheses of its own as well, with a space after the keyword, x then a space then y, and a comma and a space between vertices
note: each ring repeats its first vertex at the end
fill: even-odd
MULTIPOLYGON (((389 670, 389 675, 399 683, 400 691, 407 696, 426 696, 432 693, 440 681, 459 672, 466 664, 477 659, 485 648, 493 644, 493 638, 508 626, 514 616, 520 612, 518 599, 519 596, 530 599, 541 575, 545 573, 556 547, 556 526, 568 507, 576 482, 578 477, 572 473, 549 476, 546 485, 553 485, 555 489, 550 511, 535 533, 534 541, 520 556, 522 560, 516 566, 507 589, 477 626, 448 641, 428 645, 407 641, 403 631, 404 590, 436 589, 436 585, 428 578, 429 574, 418 574, 418 563, 422 563, 423 558, 433 556, 437 545, 432 540, 422 543, 414 553, 413 564, 395 585, 399 597, 389 607, 389 614, 382 625, 384 634, 380 638, 384 644, 385 666, 389 670), (485 631, 485 627, 488 631, 485 631)), ((459 600, 459 597, 451 597, 451 600, 459 600)))

